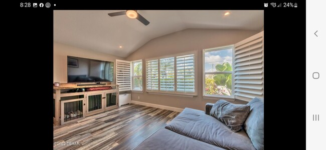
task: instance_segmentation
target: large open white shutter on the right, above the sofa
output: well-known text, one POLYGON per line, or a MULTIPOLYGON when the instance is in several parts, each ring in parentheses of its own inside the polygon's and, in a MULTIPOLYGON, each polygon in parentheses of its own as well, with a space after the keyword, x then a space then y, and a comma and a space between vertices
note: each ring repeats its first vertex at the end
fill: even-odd
POLYGON ((264 97, 264 31, 235 44, 235 98, 264 97))

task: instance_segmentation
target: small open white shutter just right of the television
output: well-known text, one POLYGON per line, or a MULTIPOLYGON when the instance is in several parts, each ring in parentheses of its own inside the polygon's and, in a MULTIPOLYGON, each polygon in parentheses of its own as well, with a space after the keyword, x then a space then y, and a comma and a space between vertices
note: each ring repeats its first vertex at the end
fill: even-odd
POLYGON ((130 61, 116 59, 116 83, 119 91, 131 90, 130 61))

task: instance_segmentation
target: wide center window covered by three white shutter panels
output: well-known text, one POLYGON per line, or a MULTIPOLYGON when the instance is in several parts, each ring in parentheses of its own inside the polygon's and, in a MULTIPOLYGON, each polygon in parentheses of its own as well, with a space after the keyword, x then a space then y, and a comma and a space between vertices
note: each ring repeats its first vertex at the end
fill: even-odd
POLYGON ((146 60, 146 91, 196 95, 195 52, 146 60))

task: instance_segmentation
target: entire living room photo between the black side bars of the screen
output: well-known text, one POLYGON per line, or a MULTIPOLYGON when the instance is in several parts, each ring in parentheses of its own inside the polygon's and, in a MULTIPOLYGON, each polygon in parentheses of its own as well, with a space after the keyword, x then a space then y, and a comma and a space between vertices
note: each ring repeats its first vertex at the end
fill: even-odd
POLYGON ((264 10, 54 10, 54 149, 264 149, 264 10))

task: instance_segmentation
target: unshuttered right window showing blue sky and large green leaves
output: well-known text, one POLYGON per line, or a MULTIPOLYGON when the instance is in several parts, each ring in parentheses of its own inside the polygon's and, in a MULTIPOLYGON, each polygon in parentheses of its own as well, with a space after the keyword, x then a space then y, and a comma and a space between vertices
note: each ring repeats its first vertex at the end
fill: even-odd
POLYGON ((204 96, 233 98, 233 45, 204 49, 204 96))

